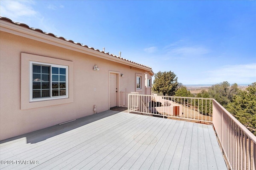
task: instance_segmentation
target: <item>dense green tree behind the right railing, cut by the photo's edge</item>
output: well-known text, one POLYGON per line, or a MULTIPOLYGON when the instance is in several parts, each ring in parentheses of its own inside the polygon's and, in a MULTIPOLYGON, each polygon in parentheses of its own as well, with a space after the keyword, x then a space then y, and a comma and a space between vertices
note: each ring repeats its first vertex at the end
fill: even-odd
POLYGON ((226 109, 256 135, 256 82, 234 95, 226 109))

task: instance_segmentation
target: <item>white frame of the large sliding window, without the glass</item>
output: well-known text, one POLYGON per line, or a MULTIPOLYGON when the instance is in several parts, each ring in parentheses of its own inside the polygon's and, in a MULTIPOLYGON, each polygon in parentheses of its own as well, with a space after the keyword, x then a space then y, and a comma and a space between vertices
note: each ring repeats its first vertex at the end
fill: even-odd
POLYGON ((46 101, 46 100, 56 100, 56 99, 68 98, 68 66, 30 61, 29 72, 30 72, 29 102, 39 102, 39 101, 46 101), (33 99, 33 70, 32 70, 33 64, 37 64, 37 65, 41 65, 41 66, 50 66, 50 97, 48 97, 48 98, 34 98, 33 99), (65 96, 52 96, 52 67, 66 68, 66 95, 65 96))

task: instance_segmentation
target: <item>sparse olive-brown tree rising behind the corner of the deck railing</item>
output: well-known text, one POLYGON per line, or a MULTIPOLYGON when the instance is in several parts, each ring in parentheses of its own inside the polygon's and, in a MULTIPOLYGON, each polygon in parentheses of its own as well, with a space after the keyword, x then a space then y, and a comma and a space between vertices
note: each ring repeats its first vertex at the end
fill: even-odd
POLYGON ((230 86, 228 82, 214 84, 208 90, 210 98, 214 98, 223 107, 226 107, 228 103, 232 102, 233 96, 238 94, 238 92, 238 85, 235 83, 230 86))

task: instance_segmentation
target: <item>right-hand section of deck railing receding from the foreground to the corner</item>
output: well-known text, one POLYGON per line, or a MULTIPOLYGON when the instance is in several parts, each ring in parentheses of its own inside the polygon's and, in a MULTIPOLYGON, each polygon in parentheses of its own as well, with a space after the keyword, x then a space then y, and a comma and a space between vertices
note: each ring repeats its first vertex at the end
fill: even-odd
POLYGON ((231 168, 255 170, 256 137, 216 100, 212 102, 214 129, 231 168))

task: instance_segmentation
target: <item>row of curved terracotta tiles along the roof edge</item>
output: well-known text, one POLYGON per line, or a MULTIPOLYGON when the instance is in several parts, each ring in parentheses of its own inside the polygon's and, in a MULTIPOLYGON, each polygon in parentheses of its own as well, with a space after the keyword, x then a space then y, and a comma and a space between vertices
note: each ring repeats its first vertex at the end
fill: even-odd
POLYGON ((41 29, 38 29, 38 28, 31 28, 31 27, 29 27, 28 25, 26 25, 26 24, 24 24, 24 23, 14 22, 14 21, 10 20, 9 18, 6 18, 6 17, 0 17, 0 20, 6 21, 6 22, 9 22, 9 23, 13 23, 13 24, 19 25, 19 26, 21 26, 21 27, 25 27, 25 28, 28 28, 28 29, 31 29, 31 30, 34 30, 34 31, 37 31, 37 32, 40 32, 40 33, 43 33, 43 34, 46 34, 46 35, 49 35, 49 36, 52 36, 52 37, 56 37, 56 38, 58 38, 58 39, 62 39, 63 41, 68 41, 68 42, 74 43, 74 44, 76 44, 76 45, 80 45, 80 46, 82 46, 82 47, 86 47, 86 48, 88 48, 88 49, 92 49, 92 50, 98 51, 98 52, 100 52, 100 53, 104 53, 104 54, 110 55, 110 56, 112 56, 112 57, 116 57, 116 58, 118 58, 118 59, 122 59, 122 60, 128 61, 128 62, 130 62, 130 63, 138 64, 138 65, 140 65, 140 66, 144 66, 144 67, 146 67, 146 68, 152 69, 152 68, 149 67, 149 66, 146 66, 146 65, 143 65, 143 64, 140 64, 140 63, 136 63, 136 62, 130 61, 130 60, 128 60, 128 59, 124 59, 124 58, 119 57, 119 56, 117 56, 117 55, 110 54, 110 53, 106 53, 106 52, 104 52, 104 51, 100 51, 99 49, 94 49, 93 47, 88 47, 87 45, 82 45, 81 43, 75 43, 74 41, 69 40, 69 39, 65 39, 64 37, 56 36, 56 35, 54 35, 53 33, 46 33, 46 32, 44 32, 44 31, 42 31, 41 29))

